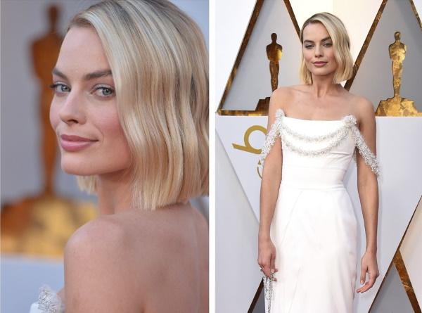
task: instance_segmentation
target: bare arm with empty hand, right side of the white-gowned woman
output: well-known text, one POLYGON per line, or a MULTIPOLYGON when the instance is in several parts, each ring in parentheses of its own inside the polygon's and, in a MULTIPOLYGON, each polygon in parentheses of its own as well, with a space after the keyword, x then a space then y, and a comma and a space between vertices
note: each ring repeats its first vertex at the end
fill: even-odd
MULTIPOLYGON (((376 154, 376 122, 372 103, 364 99, 359 103, 359 129, 369 149, 376 154)), ((365 164, 360 153, 357 153, 357 190, 364 217, 366 234, 366 252, 361 261, 361 288, 358 293, 369 290, 379 276, 376 261, 377 226, 378 226, 378 181, 376 174, 365 164), (366 281, 366 273, 369 279, 366 281)))

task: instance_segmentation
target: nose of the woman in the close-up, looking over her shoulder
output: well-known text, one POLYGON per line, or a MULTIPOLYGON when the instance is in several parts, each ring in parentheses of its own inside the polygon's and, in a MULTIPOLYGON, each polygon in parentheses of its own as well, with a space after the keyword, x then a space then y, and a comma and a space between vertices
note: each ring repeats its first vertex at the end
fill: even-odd
POLYGON ((66 124, 84 124, 86 121, 83 97, 74 90, 66 96, 63 106, 61 106, 58 115, 60 120, 66 124))

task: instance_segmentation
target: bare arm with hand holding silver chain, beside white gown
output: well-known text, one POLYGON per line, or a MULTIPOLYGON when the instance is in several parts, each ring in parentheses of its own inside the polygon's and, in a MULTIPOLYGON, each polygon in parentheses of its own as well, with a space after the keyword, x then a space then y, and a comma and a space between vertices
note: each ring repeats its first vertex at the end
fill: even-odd
MULTIPOLYGON (((280 103, 283 98, 283 89, 277 89, 271 95, 268 112, 268 127, 276 121, 276 110, 281 108, 280 103)), ((274 146, 265 158, 262 170, 261 194, 260 194, 260 229, 258 232, 258 264, 262 272, 271 277, 271 271, 276 272, 274 260, 276 249, 270 238, 271 221, 274 215, 281 182, 281 164, 283 155, 281 153, 281 139, 277 135, 274 146)))

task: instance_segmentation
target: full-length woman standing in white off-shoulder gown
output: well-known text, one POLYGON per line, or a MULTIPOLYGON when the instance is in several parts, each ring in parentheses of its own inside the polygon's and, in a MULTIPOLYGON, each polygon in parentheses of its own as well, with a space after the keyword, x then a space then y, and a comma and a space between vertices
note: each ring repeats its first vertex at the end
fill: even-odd
POLYGON ((268 312, 351 313, 357 278, 357 224, 343 178, 355 154, 366 253, 364 293, 378 277, 378 162, 372 104, 340 82, 353 72, 343 23, 330 13, 300 32, 300 86, 271 96, 264 163, 258 264, 268 312))

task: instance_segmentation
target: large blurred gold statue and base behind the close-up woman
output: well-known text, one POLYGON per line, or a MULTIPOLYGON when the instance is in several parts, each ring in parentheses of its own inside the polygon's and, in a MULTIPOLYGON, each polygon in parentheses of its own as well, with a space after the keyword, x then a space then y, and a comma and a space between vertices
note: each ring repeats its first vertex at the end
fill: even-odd
MULTIPOLYGON (((47 11, 49 31, 32 43, 34 72, 40 82, 40 120, 44 187, 37 196, 23 198, 1 208, 1 252, 63 256, 69 236, 82 224, 96 217, 96 206, 56 196, 53 174, 56 161, 56 134, 51 128, 49 110, 53 92, 51 71, 56 65, 61 37, 57 32, 59 10, 47 11)), ((76 184, 76 182, 75 182, 76 184)))

